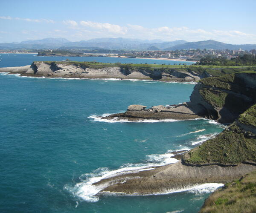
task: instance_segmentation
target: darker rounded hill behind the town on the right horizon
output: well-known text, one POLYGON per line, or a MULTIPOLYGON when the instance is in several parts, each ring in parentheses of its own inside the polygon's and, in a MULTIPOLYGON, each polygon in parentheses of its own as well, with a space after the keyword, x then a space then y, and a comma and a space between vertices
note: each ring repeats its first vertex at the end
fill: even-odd
POLYGON ((229 44, 222 43, 215 40, 204 40, 197 42, 187 42, 183 44, 178 44, 175 46, 169 46, 164 50, 175 50, 175 49, 234 49, 238 50, 241 48, 242 50, 250 50, 256 49, 256 44, 229 44))

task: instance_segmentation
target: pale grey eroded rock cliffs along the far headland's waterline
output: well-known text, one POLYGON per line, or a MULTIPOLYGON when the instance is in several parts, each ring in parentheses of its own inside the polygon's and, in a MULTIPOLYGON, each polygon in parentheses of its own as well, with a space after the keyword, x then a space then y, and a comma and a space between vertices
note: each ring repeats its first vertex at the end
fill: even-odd
POLYGON ((24 76, 47 78, 121 78, 181 82, 197 82, 202 78, 198 73, 181 69, 154 69, 143 66, 136 68, 128 65, 92 68, 86 63, 73 62, 33 62, 31 66, 0 68, 0 72, 17 72, 24 76))

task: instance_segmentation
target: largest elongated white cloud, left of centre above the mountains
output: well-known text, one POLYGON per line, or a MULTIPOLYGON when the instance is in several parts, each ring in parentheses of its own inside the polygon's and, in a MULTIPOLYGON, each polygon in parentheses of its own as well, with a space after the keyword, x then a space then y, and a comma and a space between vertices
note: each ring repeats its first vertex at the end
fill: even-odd
POLYGON ((116 24, 98 23, 98 22, 92 22, 92 21, 80 21, 80 24, 85 27, 90 27, 97 30, 106 30, 108 32, 115 33, 115 34, 125 35, 127 32, 126 27, 121 27, 116 24))

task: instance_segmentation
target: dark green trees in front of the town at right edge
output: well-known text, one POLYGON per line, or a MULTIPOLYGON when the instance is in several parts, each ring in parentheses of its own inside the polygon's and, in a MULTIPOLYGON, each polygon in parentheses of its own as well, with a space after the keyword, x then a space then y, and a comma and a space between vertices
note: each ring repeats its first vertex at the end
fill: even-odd
POLYGON ((239 65, 256 65, 256 55, 241 55, 236 58, 228 60, 224 57, 213 58, 207 56, 201 58, 195 65, 221 65, 221 66, 239 66, 239 65))

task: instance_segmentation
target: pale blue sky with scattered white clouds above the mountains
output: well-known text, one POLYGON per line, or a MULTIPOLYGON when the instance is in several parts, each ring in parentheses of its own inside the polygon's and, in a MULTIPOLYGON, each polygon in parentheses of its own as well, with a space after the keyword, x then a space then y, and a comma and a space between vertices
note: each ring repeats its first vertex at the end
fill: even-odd
POLYGON ((124 37, 256 44, 256 0, 0 1, 0 43, 124 37))

